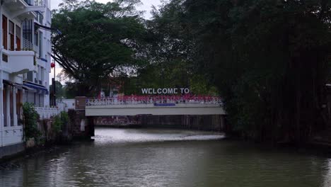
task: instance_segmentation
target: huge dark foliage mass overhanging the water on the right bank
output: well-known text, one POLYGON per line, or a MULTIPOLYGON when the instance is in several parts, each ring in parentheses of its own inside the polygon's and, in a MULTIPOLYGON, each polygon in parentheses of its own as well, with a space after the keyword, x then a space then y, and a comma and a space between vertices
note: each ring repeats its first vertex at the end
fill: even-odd
POLYGON ((180 46, 156 55, 180 53, 214 84, 235 130, 299 144, 327 123, 320 106, 330 77, 330 16, 323 0, 172 0, 154 14, 153 33, 171 30, 161 38, 180 46))

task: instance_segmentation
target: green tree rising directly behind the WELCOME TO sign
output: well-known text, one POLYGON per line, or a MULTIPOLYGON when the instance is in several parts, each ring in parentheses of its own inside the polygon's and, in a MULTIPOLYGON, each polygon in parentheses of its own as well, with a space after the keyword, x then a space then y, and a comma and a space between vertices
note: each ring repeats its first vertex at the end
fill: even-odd
MULTIPOLYGON (((192 94, 216 94, 214 86, 194 71, 190 57, 194 40, 187 35, 190 28, 182 24, 185 9, 178 2, 164 3, 159 10, 154 8, 152 19, 146 20, 144 51, 149 64, 139 69, 137 79, 129 79, 132 85, 127 88, 189 87, 192 94)), ((129 90, 141 93, 139 89, 129 90)))

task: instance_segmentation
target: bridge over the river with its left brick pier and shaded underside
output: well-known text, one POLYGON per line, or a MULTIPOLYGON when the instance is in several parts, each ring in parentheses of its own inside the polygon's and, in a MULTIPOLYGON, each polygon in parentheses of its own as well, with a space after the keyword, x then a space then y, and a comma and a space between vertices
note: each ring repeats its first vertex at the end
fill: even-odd
POLYGON ((69 110, 72 137, 90 138, 95 125, 226 131, 226 112, 214 96, 75 98, 69 110))

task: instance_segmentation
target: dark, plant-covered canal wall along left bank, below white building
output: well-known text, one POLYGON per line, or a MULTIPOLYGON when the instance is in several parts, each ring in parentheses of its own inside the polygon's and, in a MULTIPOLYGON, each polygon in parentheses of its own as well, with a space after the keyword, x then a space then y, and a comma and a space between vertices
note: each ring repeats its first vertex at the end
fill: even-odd
POLYGON ((35 137, 28 139, 23 137, 19 144, 0 147, 0 162, 25 152, 34 152, 42 147, 67 144, 72 140, 90 140, 94 136, 93 119, 86 118, 84 110, 69 110, 67 122, 60 125, 54 117, 37 120, 36 125, 38 132, 35 133, 35 137))

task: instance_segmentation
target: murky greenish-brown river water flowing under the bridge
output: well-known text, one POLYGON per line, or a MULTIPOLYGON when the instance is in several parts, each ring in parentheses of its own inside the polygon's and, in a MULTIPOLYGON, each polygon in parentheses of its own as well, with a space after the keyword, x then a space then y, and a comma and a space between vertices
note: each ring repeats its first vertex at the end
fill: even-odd
POLYGON ((327 157, 222 138, 190 130, 98 128, 94 142, 12 161, 0 170, 0 186, 331 186, 327 157))

